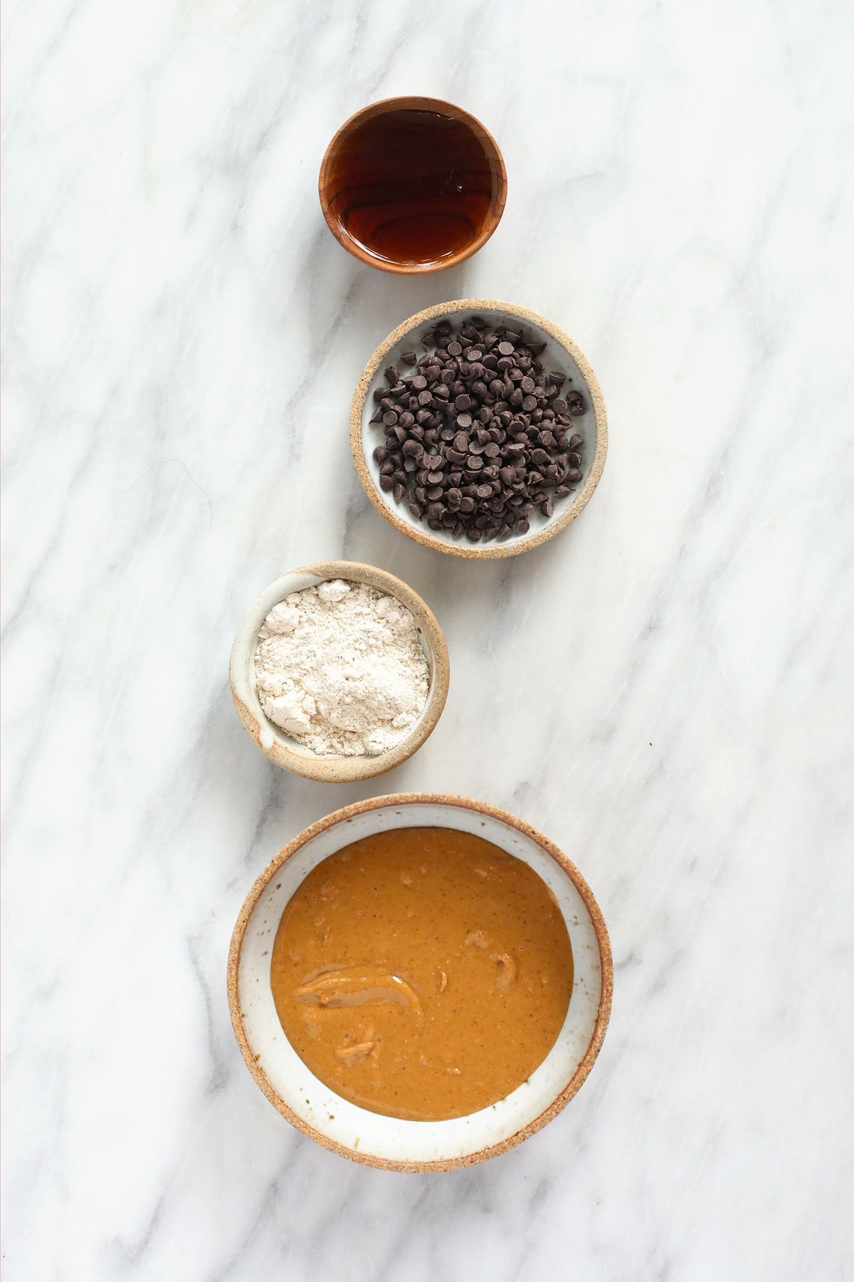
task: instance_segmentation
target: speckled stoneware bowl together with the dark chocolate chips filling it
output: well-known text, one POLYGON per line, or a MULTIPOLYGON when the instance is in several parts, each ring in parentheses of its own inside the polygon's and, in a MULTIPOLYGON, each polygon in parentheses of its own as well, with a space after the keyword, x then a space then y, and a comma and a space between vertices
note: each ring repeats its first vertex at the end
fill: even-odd
POLYGON ((515 556, 583 512, 608 449, 593 369, 526 308, 458 299, 379 345, 350 419, 376 510, 452 556, 515 556))

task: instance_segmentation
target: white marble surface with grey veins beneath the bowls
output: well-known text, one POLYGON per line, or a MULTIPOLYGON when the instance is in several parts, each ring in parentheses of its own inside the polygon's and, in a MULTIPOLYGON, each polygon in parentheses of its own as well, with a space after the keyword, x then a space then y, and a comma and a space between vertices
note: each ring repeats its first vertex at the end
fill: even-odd
POLYGON ((854 1276, 853 54, 845 0, 8 0, 8 1282, 854 1276), (403 91, 510 174, 408 281, 315 190, 403 91), (346 431, 375 342, 465 295, 563 326, 612 433, 576 526, 489 565, 384 523, 346 431), (452 654, 359 787, 277 770, 227 690, 252 596, 342 555, 452 654), (443 1176, 292 1131, 224 995, 268 858, 401 788, 545 829, 616 958, 579 1097, 443 1176))

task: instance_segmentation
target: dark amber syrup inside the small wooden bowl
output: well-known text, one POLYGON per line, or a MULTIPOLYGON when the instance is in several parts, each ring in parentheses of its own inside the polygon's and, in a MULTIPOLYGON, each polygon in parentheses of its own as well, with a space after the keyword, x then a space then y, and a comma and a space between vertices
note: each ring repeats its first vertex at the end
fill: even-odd
POLYGON ((470 126, 435 112, 385 112, 341 140, 329 208, 375 258, 438 263, 480 236, 499 185, 470 126))

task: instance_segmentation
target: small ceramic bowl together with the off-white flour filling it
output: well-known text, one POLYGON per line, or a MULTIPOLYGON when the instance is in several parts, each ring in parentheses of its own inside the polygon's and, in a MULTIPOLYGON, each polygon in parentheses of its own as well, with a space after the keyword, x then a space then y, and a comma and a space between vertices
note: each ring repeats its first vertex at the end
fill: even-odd
POLYGON ((232 647, 243 728, 294 774, 343 783, 399 765, 433 731, 448 694, 448 647, 399 578, 319 562, 270 583, 232 647))

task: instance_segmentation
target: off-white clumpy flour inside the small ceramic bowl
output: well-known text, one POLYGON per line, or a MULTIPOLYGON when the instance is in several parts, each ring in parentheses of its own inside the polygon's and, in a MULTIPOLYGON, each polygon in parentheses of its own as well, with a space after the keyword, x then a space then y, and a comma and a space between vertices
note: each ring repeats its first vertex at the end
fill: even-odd
POLYGON ((255 683, 269 719, 320 756, 376 756, 421 714, 430 669, 406 606, 365 583, 291 592, 259 632, 255 683))

